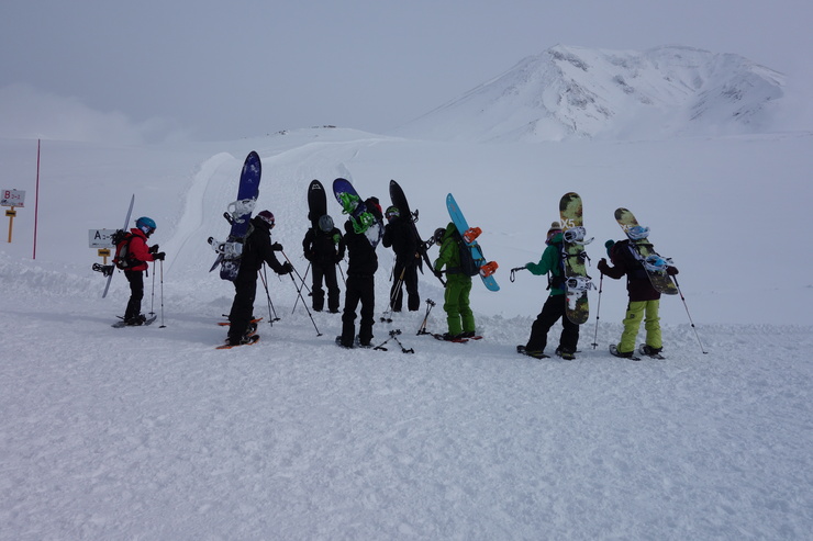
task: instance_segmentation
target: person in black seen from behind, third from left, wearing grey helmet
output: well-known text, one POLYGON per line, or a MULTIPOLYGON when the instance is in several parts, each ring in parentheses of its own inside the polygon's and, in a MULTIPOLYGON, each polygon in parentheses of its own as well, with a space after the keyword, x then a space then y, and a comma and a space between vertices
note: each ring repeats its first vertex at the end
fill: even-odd
POLYGON ((313 309, 322 312, 324 308, 324 290, 327 288, 327 309, 331 314, 338 313, 338 281, 336 280, 336 264, 344 259, 344 237, 342 232, 333 226, 333 218, 325 214, 319 218, 319 227, 311 227, 302 240, 304 257, 313 268, 311 297, 313 309))

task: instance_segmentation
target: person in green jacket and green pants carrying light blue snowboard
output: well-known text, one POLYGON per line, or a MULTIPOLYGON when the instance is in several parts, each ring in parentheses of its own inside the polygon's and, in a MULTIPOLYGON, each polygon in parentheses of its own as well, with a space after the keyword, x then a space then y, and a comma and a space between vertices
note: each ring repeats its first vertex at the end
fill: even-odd
POLYGON ((446 311, 448 333, 443 335, 444 340, 458 340, 475 336, 475 314, 469 305, 471 293, 471 277, 460 271, 460 251, 455 236, 458 235, 454 222, 449 222, 446 229, 435 232, 435 243, 441 245, 433 269, 435 274, 446 267, 446 291, 444 293, 443 309, 446 311))

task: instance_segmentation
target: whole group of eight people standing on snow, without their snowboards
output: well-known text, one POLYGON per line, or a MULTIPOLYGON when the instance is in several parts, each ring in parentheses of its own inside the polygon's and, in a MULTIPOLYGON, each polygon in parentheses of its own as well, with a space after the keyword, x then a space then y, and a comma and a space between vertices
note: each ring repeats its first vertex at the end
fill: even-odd
MULTIPOLYGON (((421 298, 417 288, 417 271, 422 264, 421 250, 430 244, 439 246, 438 257, 431 271, 438 278, 445 277, 444 311, 448 330, 437 335, 444 340, 457 341, 476 336, 475 316, 469 303, 471 277, 460 271, 460 251, 456 236, 457 228, 449 223, 445 228, 435 230, 430 241, 424 244, 416 237, 414 227, 408 222, 411 216, 402 216, 398 207, 389 206, 381 213, 377 198, 365 201, 367 208, 379 222, 386 217, 382 244, 392 248, 396 262, 391 275, 389 309, 401 312, 406 297, 406 308, 415 312, 420 308, 421 298), (404 290, 405 289, 405 295, 404 290)), ((127 257, 131 264, 125 270, 130 282, 131 296, 124 314, 124 324, 143 325, 146 320, 141 314, 141 302, 144 296, 143 273, 151 261, 163 261, 165 253, 158 251, 158 245, 147 247, 147 239, 155 232, 152 218, 141 217, 131 229, 127 257)), ((229 313, 230 328, 226 346, 234 347, 256 341, 257 318, 254 316, 254 301, 257 290, 257 274, 264 263, 280 275, 293 271, 290 261, 280 262, 276 252, 282 252, 279 243, 271 241, 270 232, 275 227, 275 217, 270 211, 263 211, 250 219, 250 233, 242 248, 241 264, 234 280, 235 295, 229 313)), ((305 233, 302 240, 303 256, 312 269, 311 303, 316 312, 325 307, 332 314, 339 313, 339 285, 336 275, 337 263, 348 256, 347 278, 345 281, 345 304, 342 315, 342 334, 336 342, 345 348, 371 347, 372 327, 375 324, 375 273, 378 270, 376 245, 370 243, 364 233, 354 228, 350 219, 344 224, 344 235, 334 226, 333 218, 325 214, 316 226, 305 233), (326 295, 325 295, 326 289, 326 295), (359 330, 356 335, 355 320, 360 304, 359 330)), ((546 248, 537 262, 524 266, 532 274, 548 277, 549 294, 542 311, 531 327, 531 335, 524 346, 517 350, 534 358, 547 358, 545 348, 550 328, 561 320, 556 354, 563 359, 575 359, 579 325, 567 317, 567 285, 561 258, 566 257, 561 244, 563 227, 554 222, 546 235, 546 248)), ((612 279, 626 277, 628 305, 624 317, 624 330, 613 354, 622 358, 635 357, 635 340, 641 323, 645 322, 646 342, 642 352, 658 356, 662 349, 659 324, 660 293, 651 285, 641 257, 636 255, 630 239, 605 244, 608 258, 601 258, 598 269, 603 275, 612 279)), ((282 252, 285 255, 285 252, 282 252)), ((287 259, 287 256, 286 256, 287 259)), ((341 269, 339 269, 341 270, 341 269)), ((678 273, 677 268, 666 268, 669 275, 678 273)), ((443 279, 442 279, 443 281, 443 279)))

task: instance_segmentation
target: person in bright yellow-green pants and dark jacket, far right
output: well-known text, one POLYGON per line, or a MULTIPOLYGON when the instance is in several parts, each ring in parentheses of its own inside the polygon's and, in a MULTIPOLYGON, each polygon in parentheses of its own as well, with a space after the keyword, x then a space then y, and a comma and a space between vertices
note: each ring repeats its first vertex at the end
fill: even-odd
MULTIPOLYGON (((630 245, 630 239, 619 243, 609 240, 605 246, 613 266, 608 264, 606 259, 602 258, 598 264, 599 271, 614 280, 626 275, 626 291, 630 295, 630 303, 624 317, 624 331, 621 334, 621 341, 615 347, 613 354, 624 358, 635 357, 635 339, 638 336, 638 329, 641 329, 641 322, 643 320, 646 330, 646 343, 643 352, 648 356, 656 356, 664 349, 660 335, 660 316, 658 315, 660 293, 649 282, 644 264, 635 257, 636 251, 630 245)), ((677 274, 678 269, 668 267, 667 273, 677 274)))

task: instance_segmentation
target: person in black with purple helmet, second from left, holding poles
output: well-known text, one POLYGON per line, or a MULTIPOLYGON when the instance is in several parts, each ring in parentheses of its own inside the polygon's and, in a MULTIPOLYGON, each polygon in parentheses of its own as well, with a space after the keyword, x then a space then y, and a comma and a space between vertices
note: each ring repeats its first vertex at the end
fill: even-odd
POLYGON ((257 295, 257 271, 263 263, 268 266, 277 274, 288 274, 293 270, 291 263, 280 263, 275 251, 281 251, 282 245, 271 244, 271 229, 274 228, 274 214, 263 211, 252 218, 248 236, 243 245, 240 271, 234 279, 234 301, 229 313, 229 338, 230 346, 246 343, 248 337, 256 330, 256 324, 252 324, 254 314, 254 297, 257 295))

